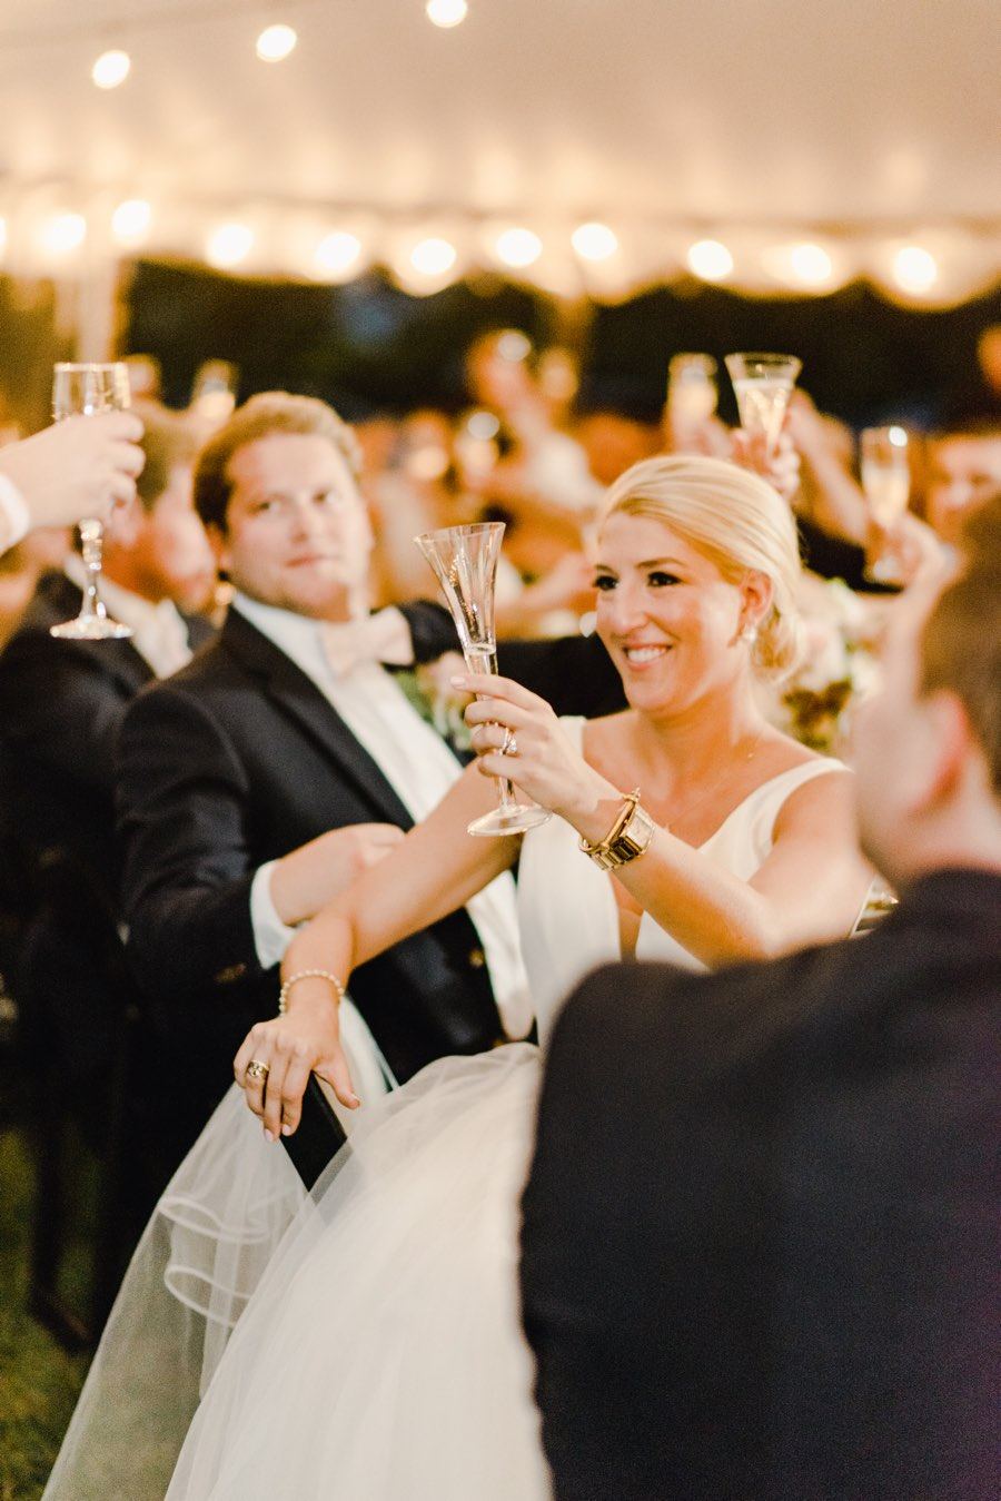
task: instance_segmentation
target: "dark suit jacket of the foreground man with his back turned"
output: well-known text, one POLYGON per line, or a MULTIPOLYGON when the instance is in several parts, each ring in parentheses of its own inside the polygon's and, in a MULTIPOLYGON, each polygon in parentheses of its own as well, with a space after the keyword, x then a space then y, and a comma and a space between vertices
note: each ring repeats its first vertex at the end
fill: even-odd
POLYGON ((558 1501, 987 1501, 1001 877, 554 1033, 522 1298, 558 1501))

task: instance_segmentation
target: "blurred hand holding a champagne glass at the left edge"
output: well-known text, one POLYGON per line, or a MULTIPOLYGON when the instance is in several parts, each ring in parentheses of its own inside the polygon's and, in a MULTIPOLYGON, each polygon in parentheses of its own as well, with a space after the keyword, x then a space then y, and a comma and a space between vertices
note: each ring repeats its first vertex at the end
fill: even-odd
POLYGON ((0 552, 36 527, 69 527, 135 498, 143 467, 131 411, 68 417, 0 449, 0 552))

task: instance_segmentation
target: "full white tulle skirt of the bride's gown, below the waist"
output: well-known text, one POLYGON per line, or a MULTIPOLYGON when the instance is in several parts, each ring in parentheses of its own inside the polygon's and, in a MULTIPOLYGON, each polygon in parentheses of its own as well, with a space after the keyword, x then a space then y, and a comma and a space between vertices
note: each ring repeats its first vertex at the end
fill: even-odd
MULTIPOLYGON (((177 1321, 170 1321, 159 1388, 156 1309, 165 1298, 186 1309, 179 1294, 185 1298, 209 1283, 189 1271, 143 1289, 153 1319, 138 1375, 149 1391, 143 1390, 138 1408, 129 1400, 116 1417, 116 1391, 125 1396, 137 1372, 101 1375, 84 1418, 80 1412, 74 1418, 90 1438, 71 1442, 71 1427, 53 1475, 54 1483, 63 1469, 66 1483, 62 1489, 50 1483, 47 1496, 548 1496, 516 1277, 518 1202, 537 1087, 539 1055, 527 1043, 431 1064, 362 1112, 312 1196, 303 1193, 285 1153, 263 1142, 240 1091, 227 1099, 213 1127, 216 1138, 227 1130, 231 1154, 218 1171, 236 1183, 245 1175, 237 1156, 257 1162, 251 1195, 257 1249, 242 1246, 225 1288, 213 1252, 209 1315, 198 1297, 191 1301, 200 1313, 189 1310, 209 1337, 189 1327, 192 1348, 185 1351, 177 1321), (251 1282, 254 1292, 240 1313, 251 1282), (176 1366, 183 1372, 177 1391, 176 1366), (206 1375, 210 1381, 191 1421, 192 1391, 204 1387, 206 1375), (99 1409, 105 1421, 95 1421, 99 1409), (87 1453, 98 1466, 93 1483, 81 1465, 87 1453)), ((206 1136, 200 1148, 209 1147, 206 1136)), ((219 1139, 215 1151, 219 1156, 219 1139)), ((243 1210, 240 1219, 246 1225, 243 1210)), ((120 1361, 119 1354, 105 1364, 120 1367, 120 1361)), ((89 1391, 81 1408, 87 1397, 89 1391)))

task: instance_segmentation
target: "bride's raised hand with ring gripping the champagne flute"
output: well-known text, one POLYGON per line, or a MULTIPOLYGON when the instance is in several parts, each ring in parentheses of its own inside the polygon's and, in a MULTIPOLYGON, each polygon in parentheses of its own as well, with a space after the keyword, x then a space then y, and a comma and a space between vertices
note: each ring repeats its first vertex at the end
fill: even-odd
POLYGON ((608 794, 605 779, 587 764, 537 693, 485 672, 465 672, 452 683, 483 695, 468 705, 465 722, 485 776, 507 778, 540 808, 570 823, 608 794))

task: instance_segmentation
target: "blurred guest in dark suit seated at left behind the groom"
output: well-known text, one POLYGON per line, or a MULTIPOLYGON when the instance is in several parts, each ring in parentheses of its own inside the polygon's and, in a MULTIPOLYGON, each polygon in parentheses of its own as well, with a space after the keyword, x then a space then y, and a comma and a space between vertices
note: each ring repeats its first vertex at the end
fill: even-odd
POLYGON ((140 503, 108 519, 102 585, 134 635, 120 641, 50 635, 51 626, 80 609, 84 570, 71 554, 63 572, 42 575, 0 654, 8 838, 29 872, 35 902, 18 998, 29 1036, 44 1039, 63 1084, 81 1091, 107 1070, 116 1027, 108 953, 119 916, 113 839, 119 729, 137 692, 183 666, 212 633, 206 621, 182 612, 203 605, 215 578, 192 504, 194 437, 162 408, 144 407, 143 420, 140 503))

